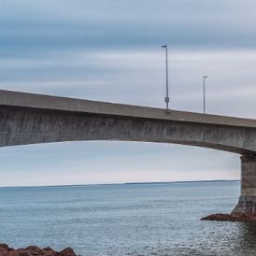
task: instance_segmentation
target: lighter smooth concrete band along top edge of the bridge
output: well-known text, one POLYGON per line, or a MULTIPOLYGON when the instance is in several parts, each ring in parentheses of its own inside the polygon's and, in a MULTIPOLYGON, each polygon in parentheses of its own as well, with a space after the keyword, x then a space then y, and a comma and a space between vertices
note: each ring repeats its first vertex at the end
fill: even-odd
POLYGON ((256 128, 256 120, 0 90, 0 106, 256 128))

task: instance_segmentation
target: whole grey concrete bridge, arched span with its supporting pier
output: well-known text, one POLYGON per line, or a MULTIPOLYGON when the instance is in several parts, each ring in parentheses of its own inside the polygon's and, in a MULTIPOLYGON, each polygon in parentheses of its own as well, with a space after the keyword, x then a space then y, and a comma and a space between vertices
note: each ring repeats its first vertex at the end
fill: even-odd
POLYGON ((241 155, 233 214, 256 214, 256 120, 0 90, 0 147, 78 140, 175 143, 241 155))

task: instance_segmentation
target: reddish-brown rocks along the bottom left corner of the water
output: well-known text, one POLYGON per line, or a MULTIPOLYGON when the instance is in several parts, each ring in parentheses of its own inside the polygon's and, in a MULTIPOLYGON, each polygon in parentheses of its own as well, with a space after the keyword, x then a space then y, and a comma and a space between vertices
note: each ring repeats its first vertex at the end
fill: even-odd
POLYGON ((40 249, 36 246, 30 246, 25 249, 12 249, 6 244, 0 244, 0 256, 78 256, 73 249, 66 248, 62 251, 55 251, 50 247, 40 249))

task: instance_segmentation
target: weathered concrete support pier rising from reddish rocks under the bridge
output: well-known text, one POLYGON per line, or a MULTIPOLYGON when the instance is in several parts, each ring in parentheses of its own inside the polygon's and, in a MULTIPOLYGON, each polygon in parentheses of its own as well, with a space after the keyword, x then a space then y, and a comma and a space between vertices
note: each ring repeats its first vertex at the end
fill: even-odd
POLYGON ((256 216, 256 156, 241 156, 241 195, 231 215, 256 216))

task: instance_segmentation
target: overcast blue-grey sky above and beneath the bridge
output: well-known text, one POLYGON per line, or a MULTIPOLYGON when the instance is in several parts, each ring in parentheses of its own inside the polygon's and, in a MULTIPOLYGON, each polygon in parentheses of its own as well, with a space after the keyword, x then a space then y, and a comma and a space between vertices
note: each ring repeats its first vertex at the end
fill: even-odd
MULTIPOLYGON (((0 0, 0 88, 256 119, 252 0, 0 0)), ((138 142, 0 149, 0 186, 240 178, 239 156, 138 142)))

